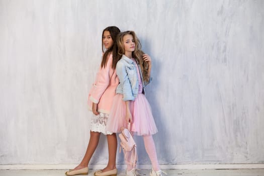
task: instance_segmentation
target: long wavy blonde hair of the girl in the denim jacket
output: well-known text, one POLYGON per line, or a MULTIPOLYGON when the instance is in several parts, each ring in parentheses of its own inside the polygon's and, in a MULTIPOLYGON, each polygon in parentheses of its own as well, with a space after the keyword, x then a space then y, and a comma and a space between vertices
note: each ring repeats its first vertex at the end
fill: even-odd
POLYGON ((143 60, 142 56, 145 53, 141 50, 141 43, 134 31, 125 31, 118 34, 117 36, 118 60, 120 60, 122 55, 125 54, 125 46, 124 46, 123 38, 125 35, 129 35, 129 34, 133 36, 133 39, 135 41, 135 50, 132 52, 132 57, 137 61, 137 63, 139 64, 142 70, 143 81, 148 82, 149 81, 148 63, 143 60))

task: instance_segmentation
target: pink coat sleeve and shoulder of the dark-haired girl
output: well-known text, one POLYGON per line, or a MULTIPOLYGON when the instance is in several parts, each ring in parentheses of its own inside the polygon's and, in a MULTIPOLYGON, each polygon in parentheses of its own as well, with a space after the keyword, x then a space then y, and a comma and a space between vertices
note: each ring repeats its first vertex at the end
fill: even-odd
POLYGON ((93 103, 99 103, 101 96, 106 91, 110 83, 110 71, 112 67, 112 54, 109 56, 106 67, 99 68, 96 75, 96 80, 93 83, 93 87, 89 93, 89 100, 93 103))

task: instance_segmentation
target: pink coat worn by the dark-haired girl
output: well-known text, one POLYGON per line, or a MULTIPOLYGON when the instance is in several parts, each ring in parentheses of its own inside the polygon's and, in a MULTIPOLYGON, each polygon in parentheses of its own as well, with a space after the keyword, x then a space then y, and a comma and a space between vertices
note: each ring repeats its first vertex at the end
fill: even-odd
POLYGON ((88 106, 92 110, 93 103, 98 104, 98 112, 109 114, 119 79, 116 70, 112 68, 113 57, 109 55, 106 67, 99 68, 96 80, 90 90, 88 106))

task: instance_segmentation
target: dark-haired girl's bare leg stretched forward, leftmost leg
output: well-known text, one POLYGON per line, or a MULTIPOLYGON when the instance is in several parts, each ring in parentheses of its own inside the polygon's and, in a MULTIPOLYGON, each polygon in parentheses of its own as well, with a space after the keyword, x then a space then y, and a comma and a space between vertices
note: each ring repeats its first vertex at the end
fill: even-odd
POLYGON ((90 140, 85 155, 79 165, 77 165, 73 170, 81 169, 88 166, 90 159, 92 158, 99 143, 100 134, 101 133, 99 132, 90 131, 90 140))

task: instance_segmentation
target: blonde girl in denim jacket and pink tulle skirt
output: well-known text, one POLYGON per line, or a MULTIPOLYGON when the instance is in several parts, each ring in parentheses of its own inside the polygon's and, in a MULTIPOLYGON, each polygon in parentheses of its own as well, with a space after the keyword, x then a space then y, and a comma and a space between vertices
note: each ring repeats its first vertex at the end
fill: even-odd
MULTIPOLYGON (((121 127, 127 127, 134 135, 143 136, 145 149, 152 163, 151 176, 164 175, 160 170, 152 135, 157 128, 151 107, 145 97, 145 86, 150 81, 151 58, 141 51, 141 44, 135 32, 126 31, 118 35, 117 86, 113 105, 109 114, 107 130, 119 133, 121 127)), ((126 175, 136 176, 136 169, 128 162, 129 154, 124 153, 127 164, 126 175), (128 157, 128 158, 126 158, 128 157)))

